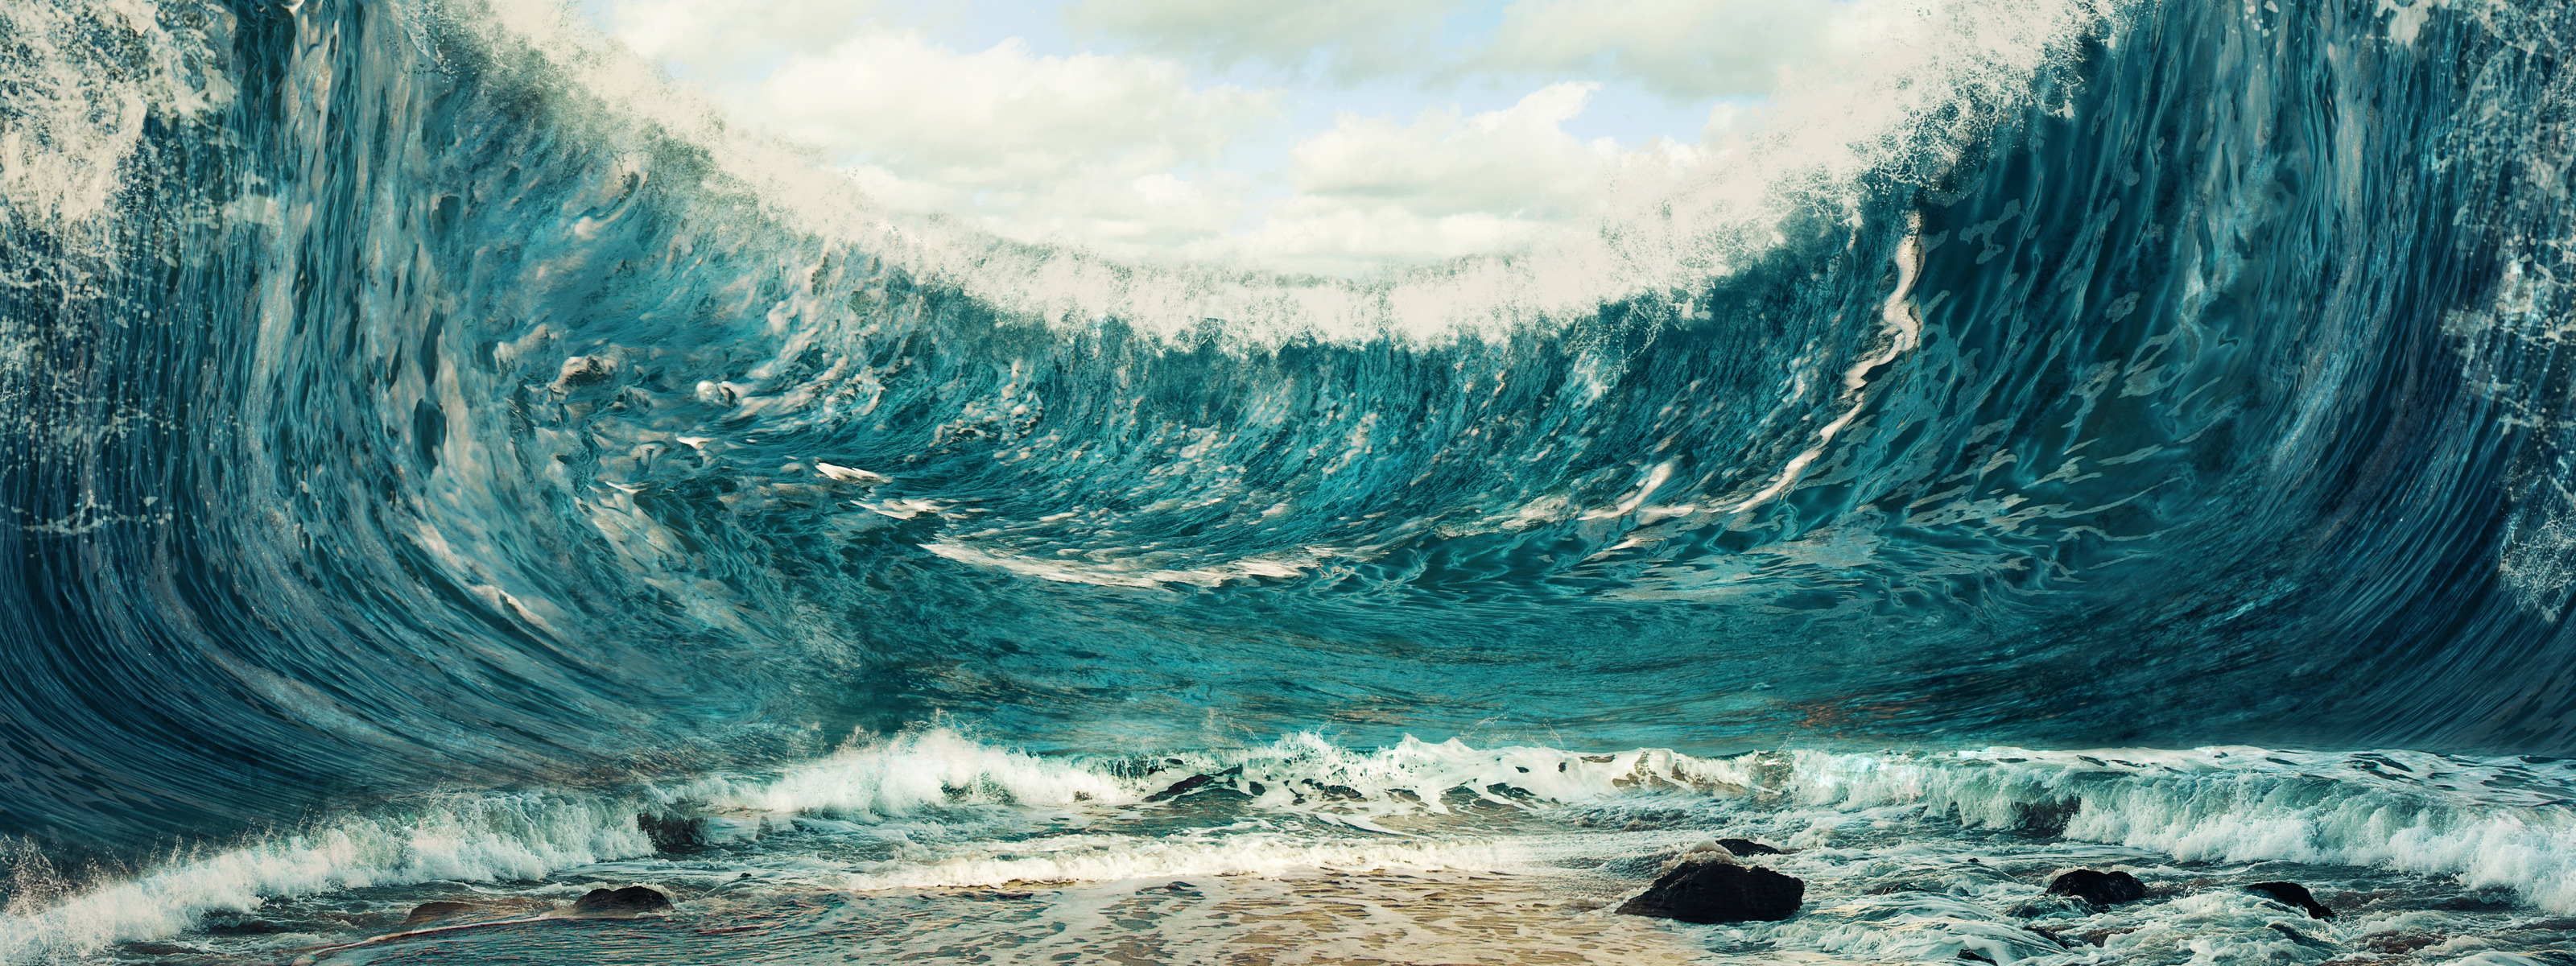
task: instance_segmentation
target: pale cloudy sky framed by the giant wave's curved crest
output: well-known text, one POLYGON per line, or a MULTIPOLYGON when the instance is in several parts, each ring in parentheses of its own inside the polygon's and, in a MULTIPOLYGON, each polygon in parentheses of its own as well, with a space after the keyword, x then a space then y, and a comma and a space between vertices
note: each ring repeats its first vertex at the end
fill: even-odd
POLYGON ((876 198, 1108 255, 1352 276, 1690 178, 1832 0, 582 0, 876 198))

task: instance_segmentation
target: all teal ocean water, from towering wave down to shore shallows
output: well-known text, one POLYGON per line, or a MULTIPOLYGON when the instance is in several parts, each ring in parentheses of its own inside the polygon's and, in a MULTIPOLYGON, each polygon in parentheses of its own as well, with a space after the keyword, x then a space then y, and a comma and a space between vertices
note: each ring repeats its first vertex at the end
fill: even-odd
POLYGON ((0 963, 2576 963, 2576 8, 1870 13, 1347 281, 0 3, 0 963))

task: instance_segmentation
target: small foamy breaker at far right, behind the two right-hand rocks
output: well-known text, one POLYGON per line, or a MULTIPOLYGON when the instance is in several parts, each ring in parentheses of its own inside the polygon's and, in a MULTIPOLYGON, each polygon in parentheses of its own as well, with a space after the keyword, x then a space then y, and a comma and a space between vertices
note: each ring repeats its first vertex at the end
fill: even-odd
POLYGON ((1803 806, 1922 804, 2179 860, 2293 860, 2460 876, 2576 912, 2576 768, 2550 760, 2259 747, 1955 755, 1801 752, 1803 806))

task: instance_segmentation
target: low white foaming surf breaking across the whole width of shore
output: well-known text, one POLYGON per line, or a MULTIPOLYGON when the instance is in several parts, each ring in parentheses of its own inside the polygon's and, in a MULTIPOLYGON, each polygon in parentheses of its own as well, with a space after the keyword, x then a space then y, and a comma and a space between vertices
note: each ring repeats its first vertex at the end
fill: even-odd
MULTIPOLYGON (((523 881, 600 863, 634 873, 634 863, 621 860, 652 855, 636 811, 654 809, 732 817, 750 835, 881 824, 886 840, 904 840, 894 855, 806 863, 809 873, 796 878, 824 889, 935 889, 1278 876, 1309 868, 1504 868, 1546 858, 1522 840, 1425 835, 1437 824, 1435 817, 1461 804, 1535 817, 1551 809, 1713 809, 1708 822, 1803 827, 1785 845, 1821 848, 1819 855, 1829 855, 1837 829, 1852 822, 1904 814, 1917 817, 1914 822, 2017 827, 2038 806, 2040 814, 2063 819, 2063 837, 2079 842, 2179 860, 2352 863, 2458 876, 2473 889, 2512 889, 2540 909, 2576 912, 2571 791, 2576 768, 2568 762, 2419 752, 1994 747, 1692 757, 1669 750, 1584 755, 1556 747, 1471 747, 1458 739, 1352 750, 1316 734, 1288 734, 1249 750, 1046 757, 948 729, 917 729, 858 739, 775 775, 708 775, 634 796, 428 799, 379 817, 191 850, 139 878, 70 899, 39 902, 21 891, 0 920, 0 963, 170 938, 206 912, 250 912, 273 896, 425 881, 523 881), (999 827, 992 824, 997 814, 1087 814, 1087 822, 1149 817, 1167 809, 1151 801, 1159 791, 1193 775, 1208 781, 1185 793, 1242 796, 1234 799, 1234 814, 1244 819, 1162 835, 1082 824, 1038 837, 981 835, 999 827), (1288 832, 1265 824, 1262 814, 1383 835, 1288 832), (840 819, 858 822, 835 824, 840 819), (948 832, 912 840, 922 829, 948 832)), ((2208 914, 2264 914, 2254 904, 2239 904, 2244 909, 2208 914)), ((1911 956, 1942 943, 1984 956, 2027 956, 2014 953, 2020 938, 1986 935, 1994 930, 1978 927, 1981 920, 1924 920, 1929 912, 1911 907, 1896 912, 1940 922, 1880 930, 1883 935, 1826 935, 1834 927, 1819 920, 1803 927, 1814 935, 1798 933, 1795 940, 1855 956, 1911 956)))

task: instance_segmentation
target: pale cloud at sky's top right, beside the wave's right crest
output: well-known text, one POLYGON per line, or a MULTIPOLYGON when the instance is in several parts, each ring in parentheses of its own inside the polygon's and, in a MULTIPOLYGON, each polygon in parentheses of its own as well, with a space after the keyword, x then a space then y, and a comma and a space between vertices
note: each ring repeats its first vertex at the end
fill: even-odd
POLYGON ((1829 0, 1520 0, 1466 70, 1600 70, 1672 98, 1767 93, 1826 46, 1829 0))

